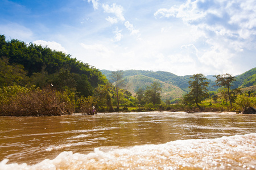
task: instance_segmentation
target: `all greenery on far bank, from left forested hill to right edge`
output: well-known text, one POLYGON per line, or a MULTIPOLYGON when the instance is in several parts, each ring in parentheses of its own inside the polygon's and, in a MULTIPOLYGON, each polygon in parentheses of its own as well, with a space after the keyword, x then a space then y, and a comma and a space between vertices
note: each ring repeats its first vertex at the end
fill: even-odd
MULTIPOLYGON (((92 115, 94 108, 98 113, 256 113, 256 68, 237 78, 214 75, 216 84, 209 83, 203 74, 179 78, 176 84, 185 84, 186 94, 177 97, 177 93, 168 99, 162 99, 163 84, 156 79, 162 77, 171 82, 171 77, 164 74, 155 75, 154 82, 143 79, 132 95, 126 90, 129 79, 122 70, 112 71, 111 81, 100 70, 70 54, 19 40, 6 41, 0 35, 0 116, 92 115), (237 79, 239 83, 235 83, 237 79), (209 91, 209 84, 217 90, 209 91)), ((177 88, 172 87, 169 90, 175 94, 177 88)))

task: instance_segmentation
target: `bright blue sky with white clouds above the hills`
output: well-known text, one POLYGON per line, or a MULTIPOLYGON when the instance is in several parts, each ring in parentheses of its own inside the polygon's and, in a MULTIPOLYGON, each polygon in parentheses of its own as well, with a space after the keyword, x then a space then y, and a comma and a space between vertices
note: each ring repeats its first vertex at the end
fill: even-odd
POLYGON ((234 76, 256 67, 256 0, 0 0, 0 35, 100 70, 234 76))

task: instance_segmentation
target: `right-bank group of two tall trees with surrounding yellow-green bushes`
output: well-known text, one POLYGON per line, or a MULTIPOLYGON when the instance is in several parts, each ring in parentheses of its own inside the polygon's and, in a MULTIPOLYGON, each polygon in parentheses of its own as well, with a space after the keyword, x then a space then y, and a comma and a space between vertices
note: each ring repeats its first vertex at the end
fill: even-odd
POLYGON ((210 102, 208 107, 215 111, 222 111, 224 106, 228 111, 237 111, 243 113, 256 113, 256 92, 254 90, 242 92, 241 88, 232 88, 236 82, 235 76, 230 74, 214 75, 216 78, 214 86, 220 87, 218 92, 208 92, 208 79, 203 74, 195 74, 189 80, 189 92, 184 95, 183 103, 186 105, 196 104, 197 111, 204 111, 205 104, 210 102), (222 100, 222 102, 220 102, 222 100), (216 104, 217 103, 217 104, 216 104), (229 103, 229 104, 228 104, 229 103))

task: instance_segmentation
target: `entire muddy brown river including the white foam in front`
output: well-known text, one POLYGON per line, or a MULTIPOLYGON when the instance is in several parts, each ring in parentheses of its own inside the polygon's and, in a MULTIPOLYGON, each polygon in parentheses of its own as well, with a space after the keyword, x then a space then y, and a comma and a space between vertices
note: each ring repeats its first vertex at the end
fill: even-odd
POLYGON ((255 169, 255 122, 231 113, 0 117, 0 169, 255 169))

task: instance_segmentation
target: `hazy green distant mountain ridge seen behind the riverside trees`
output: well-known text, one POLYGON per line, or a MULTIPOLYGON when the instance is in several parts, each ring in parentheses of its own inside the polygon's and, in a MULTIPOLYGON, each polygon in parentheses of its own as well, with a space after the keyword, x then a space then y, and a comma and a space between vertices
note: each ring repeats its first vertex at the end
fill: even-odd
MULTIPOLYGON (((100 70, 110 82, 112 71, 100 70)), ((178 76, 167 71, 145 71, 145 70, 125 70, 123 76, 128 82, 127 90, 135 95, 135 91, 140 87, 150 86, 152 82, 159 82, 162 87, 162 100, 177 99, 186 94, 188 89, 188 81, 192 75, 178 76)), ((217 91, 214 75, 205 76, 209 80, 209 91, 217 91)), ((241 75, 236 76, 237 81, 234 82, 234 88, 249 87, 256 85, 256 67, 241 75)))

